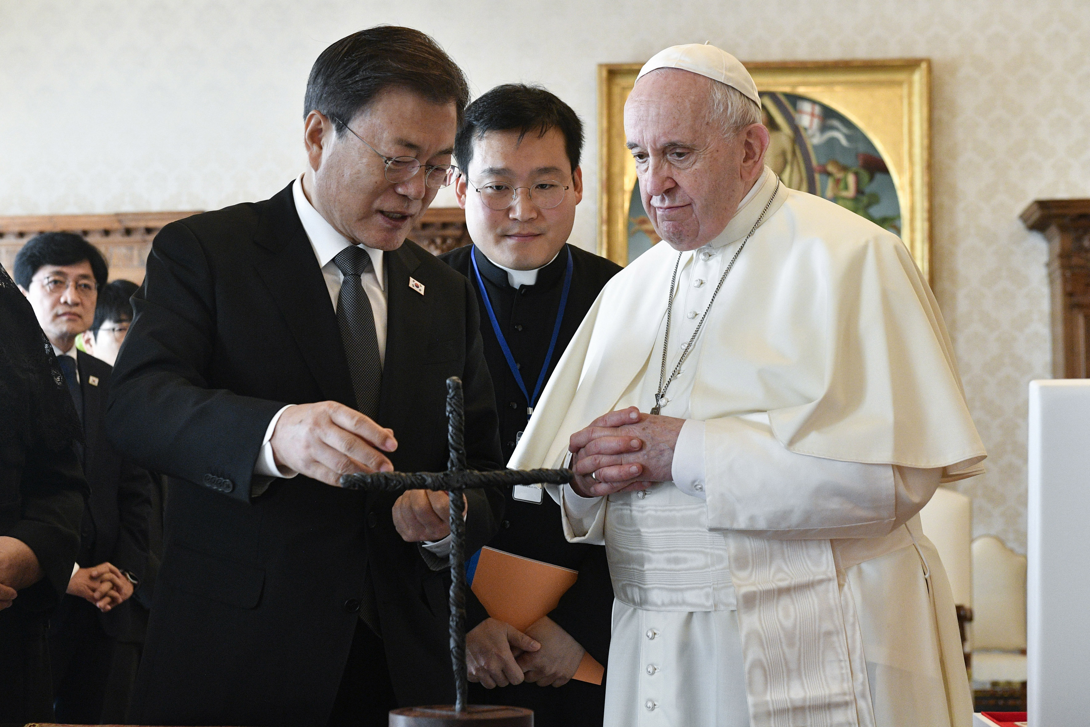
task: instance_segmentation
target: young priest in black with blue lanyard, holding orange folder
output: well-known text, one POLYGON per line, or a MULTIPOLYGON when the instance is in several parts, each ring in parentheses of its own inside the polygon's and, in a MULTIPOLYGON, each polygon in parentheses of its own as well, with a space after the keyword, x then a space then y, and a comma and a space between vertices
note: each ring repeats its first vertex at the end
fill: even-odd
MULTIPOLYGON (((456 192, 473 245, 443 259, 470 279, 487 312, 481 331, 505 459, 598 291, 620 270, 567 242, 583 193, 582 144, 582 123, 567 104, 518 84, 473 101, 458 133, 456 192)), ((568 543, 559 507, 543 495, 536 487, 508 489, 506 519, 489 546, 578 570, 579 579, 525 633, 488 618, 470 594, 475 628, 467 651, 477 682, 470 698, 532 708, 542 727, 601 725, 605 684, 571 677, 584 652, 603 665, 608 656, 613 586, 605 548, 568 543)))

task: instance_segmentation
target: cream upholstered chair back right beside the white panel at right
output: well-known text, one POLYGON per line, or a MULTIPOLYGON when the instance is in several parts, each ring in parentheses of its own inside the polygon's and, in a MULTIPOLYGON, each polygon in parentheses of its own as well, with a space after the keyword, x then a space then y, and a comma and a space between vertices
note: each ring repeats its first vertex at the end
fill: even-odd
POLYGON ((1026 556, 994 535, 972 542, 974 682, 1026 681, 1026 556))

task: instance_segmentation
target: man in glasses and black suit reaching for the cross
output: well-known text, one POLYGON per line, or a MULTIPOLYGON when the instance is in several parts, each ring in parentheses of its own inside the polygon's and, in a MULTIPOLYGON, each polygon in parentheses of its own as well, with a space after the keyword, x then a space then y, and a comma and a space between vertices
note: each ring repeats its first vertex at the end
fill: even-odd
MULTIPOLYGON (((449 376, 470 468, 501 467, 474 293, 405 240, 468 95, 417 31, 343 38, 307 82, 303 174, 157 235, 108 415, 170 477, 132 722, 386 725, 452 701, 447 495, 338 482, 445 470, 449 376)), ((467 500, 475 549, 502 496, 467 500)))

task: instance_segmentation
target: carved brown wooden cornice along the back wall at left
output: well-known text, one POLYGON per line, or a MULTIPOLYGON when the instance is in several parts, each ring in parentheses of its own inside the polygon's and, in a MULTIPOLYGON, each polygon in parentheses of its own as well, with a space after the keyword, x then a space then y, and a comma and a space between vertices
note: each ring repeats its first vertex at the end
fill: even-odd
MULTIPOLYGON (((110 279, 144 281, 144 265, 152 240, 164 225, 196 211, 118 213, 113 215, 27 215, 0 217, 0 264, 9 271, 15 254, 39 232, 76 232, 98 247, 110 266, 110 279)), ((424 213, 409 235, 439 255, 469 244, 465 213, 458 207, 435 207, 424 213)))

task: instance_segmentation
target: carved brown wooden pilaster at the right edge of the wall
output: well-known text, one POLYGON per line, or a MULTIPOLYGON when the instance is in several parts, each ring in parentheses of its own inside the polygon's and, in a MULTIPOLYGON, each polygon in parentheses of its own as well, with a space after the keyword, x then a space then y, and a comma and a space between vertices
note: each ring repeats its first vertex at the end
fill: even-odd
POLYGON ((1049 241, 1053 378, 1088 378, 1090 199, 1038 199, 1021 214, 1049 241))

